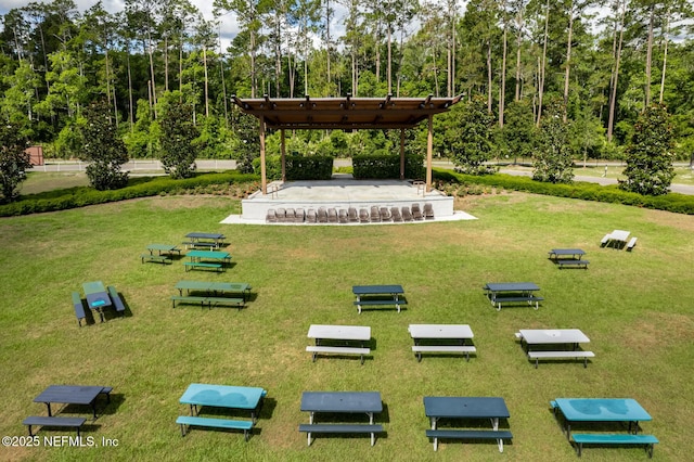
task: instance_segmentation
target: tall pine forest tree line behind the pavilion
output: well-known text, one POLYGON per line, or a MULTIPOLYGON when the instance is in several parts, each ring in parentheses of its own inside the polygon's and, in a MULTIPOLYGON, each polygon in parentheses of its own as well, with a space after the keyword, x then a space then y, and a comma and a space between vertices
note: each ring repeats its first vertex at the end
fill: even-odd
MULTIPOLYGON (((195 128, 198 157, 249 165, 257 133, 231 95, 483 98, 494 155, 561 117, 569 157, 622 158, 653 103, 671 116, 673 152, 694 153, 694 47, 686 0, 189 0, 30 2, 2 17, 0 115, 49 156, 78 157, 85 113, 105 101, 130 157, 159 157, 168 110, 195 128), (337 16, 339 15, 339 16, 337 16), (220 25, 239 34, 222 49, 220 25), (340 34, 335 33, 339 25, 340 34), (553 107, 560 104, 562 110, 553 107), (180 111, 180 110, 177 110, 180 111), (247 162, 246 162, 247 161, 247 162)), ((437 118, 449 156, 465 133, 437 118)), ((409 136, 421 146, 421 133, 409 136)), ((387 133, 303 132, 290 151, 340 155, 396 149, 387 133)), ((516 143, 516 144, 514 144, 516 143)), ((269 150, 278 151, 269 140, 269 150)), ((534 144, 525 144, 532 154, 534 144)))

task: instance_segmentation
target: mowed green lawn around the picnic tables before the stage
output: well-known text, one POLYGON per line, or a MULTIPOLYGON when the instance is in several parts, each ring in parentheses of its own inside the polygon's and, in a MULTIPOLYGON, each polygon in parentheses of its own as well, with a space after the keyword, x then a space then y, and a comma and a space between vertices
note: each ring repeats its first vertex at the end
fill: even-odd
MULTIPOLYGON (((85 427, 97 448, 0 448, 2 460, 244 461, 574 461, 576 452, 549 409, 556 397, 635 398, 653 416, 643 432, 660 439, 655 460, 689 460, 694 442, 694 217, 520 193, 468 198, 475 221, 412 226, 226 226, 240 203, 223 197, 155 197, 0 220, 0 433, 26 435, 22 421, 43 415, 33 402, 51 384, 113 386, 99 419, 85 427), (632 253, 600 248, 613 229, 639 238, 632 253), (149 243, 178 244, 191 231, 227 235, 233 267, 185 273, 180 261, 142 265, 149 243), (558 270, 553 247, 581 247, 590 269, 558 270), (248 282, 246 309, 171 308, 179 280, 248 282), (79 329, 70 292, 85 281, 115 285, 129 306, 124 319, 79 329), (532 281, 539 310, 504 308, 485 298, 486 282, 532 281), (352 306, 354 284, 402 284, 407 309, 352 306), (321 357, 305 347, 311 323, 370 325, 372 357, 321 357), (478 354, 411 352, 410 323, 467 323, 478 354), (578 328, 596 355, 580 361, 526 359, 518 329, 578 328), (190 383, 268 390, 254 436, 193 429, 176 418, 190 383), (386 434, 319 436, 307 447, 299 423, 304 390, 378 390, 386 434), (513 444, 425 437, 422 398, 501 396, 513 444), (102 447, 102 438, 117 447, 102 447)), ((59 406, 59 409, 60 406, 59 406)), ((80 407, 60 415, 89 416, 80 407)), ((365 422, 364 415, 364 422, 365 422)), ((74 432, 39 431, 43 436, 74 432)), ((641 448, 593 448, 588 461, 646 459, 641 448)))

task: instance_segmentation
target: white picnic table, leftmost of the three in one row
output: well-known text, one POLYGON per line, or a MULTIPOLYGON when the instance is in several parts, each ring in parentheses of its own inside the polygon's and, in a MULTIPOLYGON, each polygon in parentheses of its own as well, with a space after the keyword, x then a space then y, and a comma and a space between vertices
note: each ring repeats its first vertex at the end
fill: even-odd
POLYGON ((371 352, 370 348, 364 347, 364 342, 371 341, 369 326, 311 324, 307 336, 316 341, 314 346, 306 347, 313 361, 318 354, 359 355, 363 364, 364 356, 371 352), (354 343, 359 346, 351 345, 354 343))

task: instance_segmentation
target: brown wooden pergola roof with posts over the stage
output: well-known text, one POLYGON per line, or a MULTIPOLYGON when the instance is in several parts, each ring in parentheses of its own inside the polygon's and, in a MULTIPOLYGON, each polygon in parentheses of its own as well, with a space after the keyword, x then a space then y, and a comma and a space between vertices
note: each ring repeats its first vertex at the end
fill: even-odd
POLYGON ((265 133, 281 132, 282 180, 285 180, 285 130, 373 130, 400 129, 400 179, 404 179, 404 130, 428 120, 426 142, 426 191, 432 190, 433 119, 448 111, 463 95, 454 98, 292 98, 257 99, 232 97, 245 114, 260 120, 260 176, 267 194, 265 133))

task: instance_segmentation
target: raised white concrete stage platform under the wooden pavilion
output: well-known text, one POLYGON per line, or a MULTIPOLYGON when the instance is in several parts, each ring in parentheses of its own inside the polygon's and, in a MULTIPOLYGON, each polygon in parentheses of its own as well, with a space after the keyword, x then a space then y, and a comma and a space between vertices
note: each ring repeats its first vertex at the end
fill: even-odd
POLYGON ((345 210, 355 207, 359 213, 362 208, 370 210, 374 205, 389 209, 390 207, 401 208, 420 204, 420 207, 424 208, 425 203, 432 204, 434 220, 409 223, 475 219, 464 211, 453 211, 453 197, 435 190, 426 193, 422 184, 414 184, 408 180, 354 180, 350 177, 336 175, 332 180, 326 181, 274 181, 268 184, 267 195, 257 191, 248 198, 241 201, 242 215, 231 215, 221 222, 278 226, 365 226, 371 223, 266 223, 266 217, 269 209, 277 210, 278 208, 303 208, 306 213, 311 208, 318 211, 319 207, 345 210))

